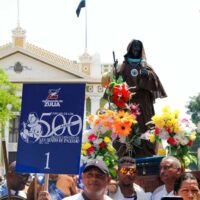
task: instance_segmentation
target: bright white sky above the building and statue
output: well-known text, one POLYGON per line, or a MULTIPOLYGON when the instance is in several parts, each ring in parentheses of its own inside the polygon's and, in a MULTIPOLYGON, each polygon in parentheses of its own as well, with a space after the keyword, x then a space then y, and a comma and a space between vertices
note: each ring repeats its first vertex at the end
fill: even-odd
MULTIPOLYGON (((17 0, 0 0, 0 45, 11 42, 17 25, 17 0)), ((27 42, 78 60, 85 50, 85 9, 79 0, 19 0, 20 24, 27 42)), ((148 63, 168 98, 155 104, 185 111, 190 96, 200 92, 199 0, 87 0, 87 46, 102 63, 120 62, 133 38, 145 47, 148 63)))

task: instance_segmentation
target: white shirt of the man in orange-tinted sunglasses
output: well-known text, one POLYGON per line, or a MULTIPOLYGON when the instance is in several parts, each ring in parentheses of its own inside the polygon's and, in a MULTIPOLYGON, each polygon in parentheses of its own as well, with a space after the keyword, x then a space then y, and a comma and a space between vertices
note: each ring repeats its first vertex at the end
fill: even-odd
MULTIPOLYGON (((148 200, 147 195, 145 194, 144 190, 142 187, 140 187, 137 184, 133 184, 133 188, 136 192, 137 195, 137 200, 148 200)), ((110 193, 109 196, 113 199, 113 200, 134 200, 134 198, 125 198, 124 195, 121 192, 120 187, 117 187, 117 192, 116 193, 110 193)))

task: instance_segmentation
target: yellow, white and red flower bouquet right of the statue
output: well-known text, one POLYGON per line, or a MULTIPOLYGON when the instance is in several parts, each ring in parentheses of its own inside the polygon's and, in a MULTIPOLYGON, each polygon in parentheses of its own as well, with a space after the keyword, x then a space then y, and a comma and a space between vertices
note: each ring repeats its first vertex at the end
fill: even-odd
MULTIPOLYGON (((167 154, 176 156, 183 167, 190 163, 197 163, 195 156, 190 154, 190 147, 196 139, 196 126, 187 118, 181 118, 178 110, 171 111, 169 107, 164 107, 162 114, 152 117, 154 129, 149 132, 151 142, 167 143, 167 154)), ((163 150, 159 150, 163 152, 163 150)))

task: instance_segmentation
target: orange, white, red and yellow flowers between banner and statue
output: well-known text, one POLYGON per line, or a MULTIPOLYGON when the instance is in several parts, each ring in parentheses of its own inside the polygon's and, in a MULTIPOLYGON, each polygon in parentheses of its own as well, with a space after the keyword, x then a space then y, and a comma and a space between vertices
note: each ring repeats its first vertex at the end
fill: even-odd
POLYGON ((102 110, 97 115, 87 118, 89 129, 83 134, 82 161, 88 159, 103 159, 108 166, 110 175, 116 178, 118 157, 112 141, 118 136, 125 140, 137 123, 136 116, 124 110, 102 110))

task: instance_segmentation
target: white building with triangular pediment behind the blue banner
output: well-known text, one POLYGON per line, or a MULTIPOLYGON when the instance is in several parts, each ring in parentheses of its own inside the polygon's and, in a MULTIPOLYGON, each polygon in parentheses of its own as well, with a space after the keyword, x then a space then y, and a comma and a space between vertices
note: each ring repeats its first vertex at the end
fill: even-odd
MULTIPOLYGON (((100 84, 102 72, 111 65, 101 65, 97 55, 87 52, 73 61, 26 42, 26 31, 18 25, 12 31, 12 42, 0 46, 0 69, 13 83, 86 83, 86 115, 95 113, 100 107, 104 89, 100 84)), ((18 92, 21 96, 21 90, 18 92)), ((8 124, 6 132, 9 159, 14 160, 17 151, 19 113, 8 124)))

